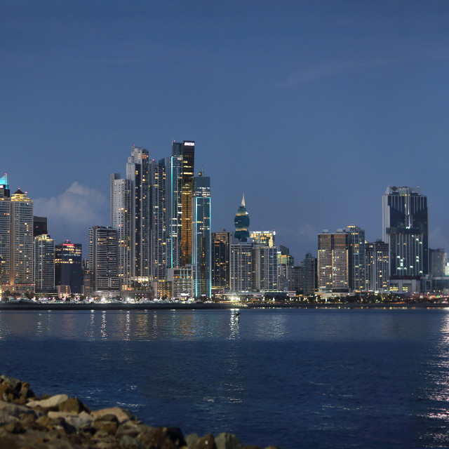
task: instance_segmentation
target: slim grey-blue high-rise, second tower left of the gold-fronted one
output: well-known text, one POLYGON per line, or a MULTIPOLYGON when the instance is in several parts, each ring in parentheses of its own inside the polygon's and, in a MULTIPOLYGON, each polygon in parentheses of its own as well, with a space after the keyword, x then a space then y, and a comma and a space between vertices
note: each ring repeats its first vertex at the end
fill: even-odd
POLYGON ((150 263, 152 281, 166 279, 166 166, 165 161, 149 163, 150 263))

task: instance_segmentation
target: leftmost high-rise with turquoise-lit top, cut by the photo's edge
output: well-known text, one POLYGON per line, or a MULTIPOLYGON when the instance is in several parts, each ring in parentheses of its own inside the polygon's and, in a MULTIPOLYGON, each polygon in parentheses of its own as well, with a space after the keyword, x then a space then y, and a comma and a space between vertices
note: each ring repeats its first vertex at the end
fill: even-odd
POLYGON ((11 198, 8 175, 0 177, 0 282, 9 286, 11 266, 11 198))

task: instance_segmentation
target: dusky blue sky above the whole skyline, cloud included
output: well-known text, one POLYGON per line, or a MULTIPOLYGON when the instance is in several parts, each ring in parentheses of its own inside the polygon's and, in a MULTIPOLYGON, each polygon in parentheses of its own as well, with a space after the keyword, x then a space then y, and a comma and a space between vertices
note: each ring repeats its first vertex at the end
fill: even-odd
POLYGON ((109 174, 195 140, 212 225, 276 230, 296 260, 351 223, 382 236, 420 186, 449 249, 447 1, 2 1, 0 173, 57 241, 109 225, 109 174))

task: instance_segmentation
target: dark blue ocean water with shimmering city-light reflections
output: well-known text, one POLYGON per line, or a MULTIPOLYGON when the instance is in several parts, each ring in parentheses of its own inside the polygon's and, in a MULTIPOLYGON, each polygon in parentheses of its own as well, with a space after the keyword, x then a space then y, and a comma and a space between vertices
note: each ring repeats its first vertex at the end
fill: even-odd
POLYGON ((0 311, 0 371, 185 435, 449 447, 447 309, 0 311))

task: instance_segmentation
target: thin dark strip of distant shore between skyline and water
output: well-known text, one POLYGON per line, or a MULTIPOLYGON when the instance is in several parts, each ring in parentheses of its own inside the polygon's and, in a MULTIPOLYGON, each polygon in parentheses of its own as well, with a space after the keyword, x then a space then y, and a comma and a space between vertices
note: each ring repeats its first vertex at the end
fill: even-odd
POLYGON ((37 304, 30 302, 1 303, 0 311, 8 310, 220 310, 220 309, 440 309, 449 304, 416 303, 344 303, 344 304, 133 304, 133 303, 91 303, 91 304, 37 304))

